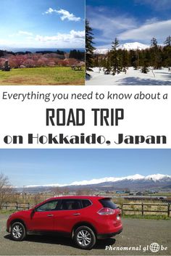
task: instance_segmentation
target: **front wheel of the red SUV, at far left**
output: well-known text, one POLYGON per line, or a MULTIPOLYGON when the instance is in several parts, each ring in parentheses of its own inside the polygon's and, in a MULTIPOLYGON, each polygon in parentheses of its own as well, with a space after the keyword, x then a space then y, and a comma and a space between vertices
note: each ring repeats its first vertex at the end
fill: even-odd
POLYGON ((25 226, 20 222, 13 223, 11 228, 11 236, 14 241, 22 241, 25 239, 25 226))

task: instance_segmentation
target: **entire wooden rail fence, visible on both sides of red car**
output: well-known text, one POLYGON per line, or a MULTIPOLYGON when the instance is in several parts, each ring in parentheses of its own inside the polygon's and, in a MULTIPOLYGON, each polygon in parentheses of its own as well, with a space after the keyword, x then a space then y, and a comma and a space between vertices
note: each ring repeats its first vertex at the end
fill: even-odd
MULTIPOLYGON (((125 212, 141 212, 141 215, 144 215, 146 212, 157 212, 157 213, 164 213, 164 215, 167 215, 170 217, 170 203, 168 204, 144 204, 143 202, 141 204, 117 204, 120 206, 120 210, 122 212, 122 215, 125 214, 125 212), (164 208, 164 209, 162 209, 164 208)), ((2 206, 3 209, 6 210, 29 210, 33 205, 30 205, 29 202, 5 202, 4 205, 2 206)))

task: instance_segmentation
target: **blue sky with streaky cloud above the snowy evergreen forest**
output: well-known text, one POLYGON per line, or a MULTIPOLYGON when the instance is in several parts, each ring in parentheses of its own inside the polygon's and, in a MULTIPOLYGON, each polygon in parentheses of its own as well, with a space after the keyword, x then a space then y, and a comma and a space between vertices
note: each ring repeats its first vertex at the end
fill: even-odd
POLYGON ((117 36, 120 44, 163 44, 171 35, 170 0, 87 0, 86 17, 97 48, 109 48, 117 36))

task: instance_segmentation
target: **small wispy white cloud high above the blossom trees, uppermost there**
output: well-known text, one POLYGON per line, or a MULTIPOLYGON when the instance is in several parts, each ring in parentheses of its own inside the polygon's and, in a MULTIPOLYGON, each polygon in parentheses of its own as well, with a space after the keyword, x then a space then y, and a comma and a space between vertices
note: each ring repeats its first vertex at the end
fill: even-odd
POLYGON ((73 15, 72 13, 68 12, 65 9, 57 10, 57 9, 52 9, 51 7, 46 12, 43 12, 43 15, 51 15, 54 12, 60 15, 61 20, 70 20, 70 21, 81 20, 80 17, 76 17, 75 15, 73 15))

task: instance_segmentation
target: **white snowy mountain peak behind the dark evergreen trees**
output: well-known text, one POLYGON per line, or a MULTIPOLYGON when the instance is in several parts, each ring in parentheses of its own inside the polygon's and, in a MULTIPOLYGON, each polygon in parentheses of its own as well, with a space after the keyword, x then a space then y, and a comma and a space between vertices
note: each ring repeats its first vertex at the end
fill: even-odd
MULTIPOLYGON (((117 49, 125 49, 125 50, 143 50, 146 48, 149 48, 150 46, 146 44, 141 44, 138 42, 134 43, 125 43, 125 44, 120 44, 120 46, 117 49)), ((110 49, 96 49, 94 50, 94 54, 107 54, 107 52, 110 51, 110 49)))

